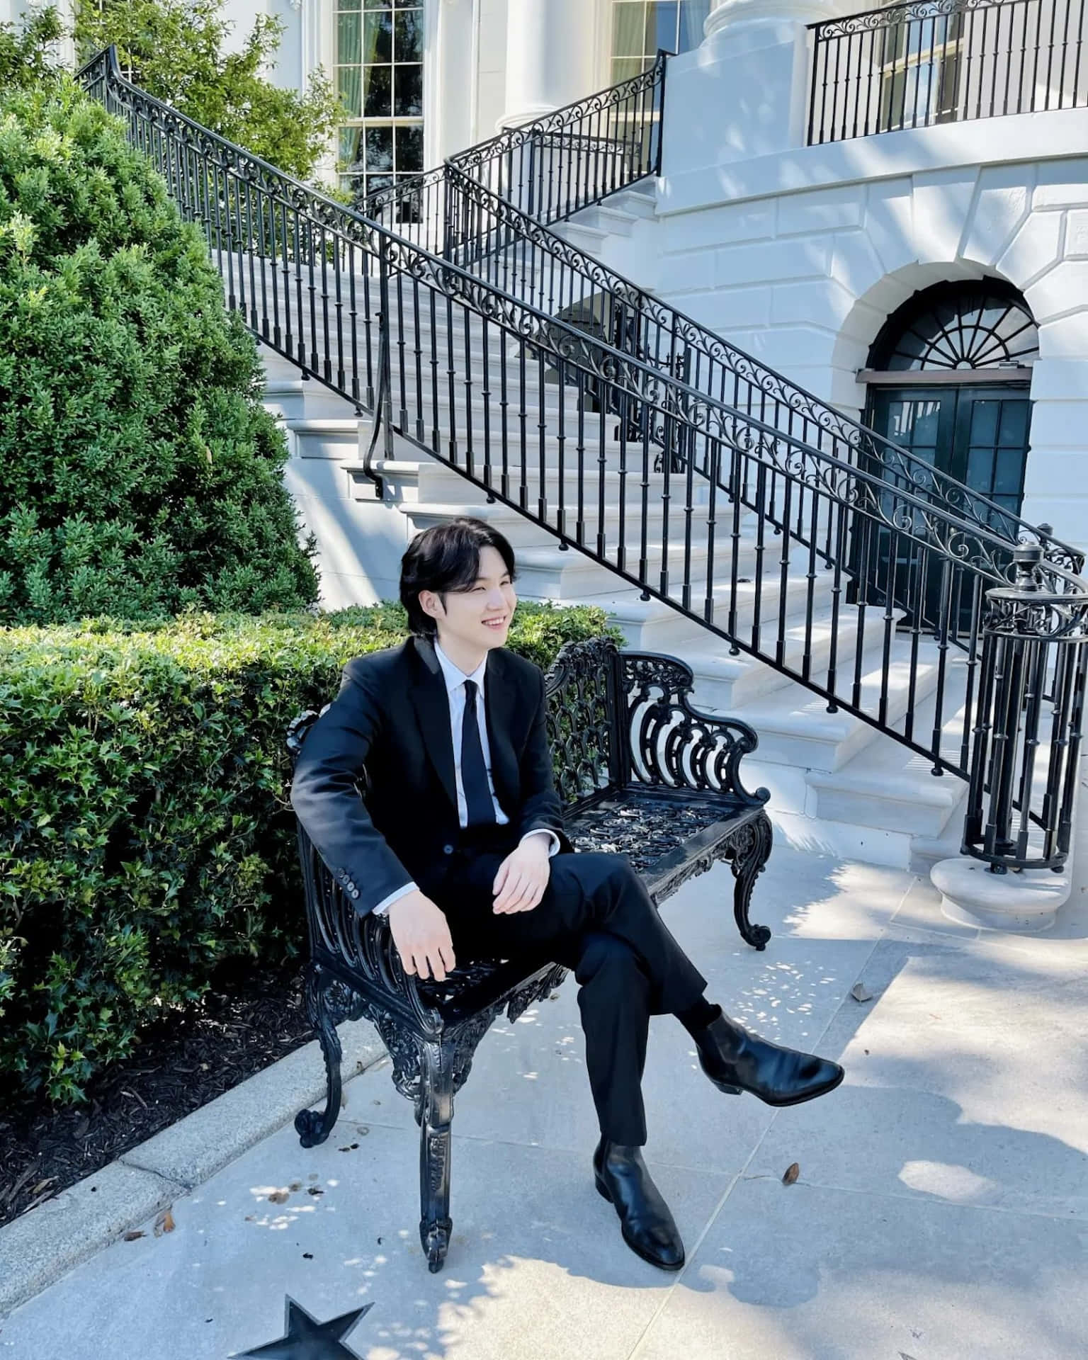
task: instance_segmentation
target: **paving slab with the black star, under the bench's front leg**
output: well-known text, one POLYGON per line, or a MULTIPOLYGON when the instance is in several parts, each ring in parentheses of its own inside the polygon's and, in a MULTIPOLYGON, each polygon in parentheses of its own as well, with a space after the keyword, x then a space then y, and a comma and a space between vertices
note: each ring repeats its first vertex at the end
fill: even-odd
MULTIPOLYGON (((352 1088, 360 1110, 385 1083, 352 1088)), ((0 1356, 220 1360, 280 1337, 286 1295, 321 1321, 373 1303, 347 1338, 367 1360, 510 1360, 526 1342, 567 1360, 573 1319, 582 1355, 631 1353, 676 1277, 623 1244, 588 1153, 454 1137, 453 1239, 431 1276, 418 1141, 363 1127, 309 1149, 291 1129, 264 1140, 174 1201, 171 1234, 118 1242, 14 1312, 0 1356)), ((653 1170, 694 1244, 732 1178, 653 1170)))

